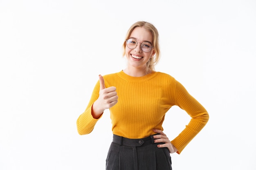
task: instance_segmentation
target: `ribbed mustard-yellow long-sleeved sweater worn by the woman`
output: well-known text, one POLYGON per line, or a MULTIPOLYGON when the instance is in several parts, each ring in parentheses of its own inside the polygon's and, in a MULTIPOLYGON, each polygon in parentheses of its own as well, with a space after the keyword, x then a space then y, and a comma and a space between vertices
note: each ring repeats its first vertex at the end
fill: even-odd
MULTIPOLYGON (((163 130, 162 123, 166 112, 176 105, 192 118, 186 128, 171 141, 180 154, 209 119, 205 108, 168 74, 153 72, 143 77, 131 77, 121 71, 103 77, 106 88, 115 86, 119 97, 117 104, 110 108, 112 132, 115 135, 130 139, 153 135, 153 129, 163 130)), ((92 104, 98 97, 99 81, 85 112, 77 119, 80 135, 92 132, 100 119, 94 119, 91 114, 92 104)))

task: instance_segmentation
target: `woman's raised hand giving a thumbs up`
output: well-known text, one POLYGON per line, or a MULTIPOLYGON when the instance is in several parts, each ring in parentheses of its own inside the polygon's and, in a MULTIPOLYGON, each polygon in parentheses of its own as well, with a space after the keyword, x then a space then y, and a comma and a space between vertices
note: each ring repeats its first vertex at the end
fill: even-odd
POLYGON ((117 92, 116 87, 105 87, 104 78, 99 75, 99 98, 92 105, 92 116, 94 118, 99 118, 105 109, 111 108, 117 104, 117 92))

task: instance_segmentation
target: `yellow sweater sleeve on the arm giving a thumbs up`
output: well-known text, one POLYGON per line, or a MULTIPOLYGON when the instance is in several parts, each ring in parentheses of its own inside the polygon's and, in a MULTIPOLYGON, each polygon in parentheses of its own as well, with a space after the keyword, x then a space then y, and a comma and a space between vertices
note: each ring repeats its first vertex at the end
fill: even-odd
POLYGON ((92 105, 93 103, 98 99, 99 97, 99 81, 97 82, 96 86, 94 87, 94 90, 92 92, 92 96, 90 99, 90 102, 85 109, 85 111, 78 117, 76 121, 76 127, 77 131, 80 135, 86 135, 92 132, 94 129, 95 124, 97 121, 102 117, 99 117, 99 119, 95 119, 92 117, 92 105))

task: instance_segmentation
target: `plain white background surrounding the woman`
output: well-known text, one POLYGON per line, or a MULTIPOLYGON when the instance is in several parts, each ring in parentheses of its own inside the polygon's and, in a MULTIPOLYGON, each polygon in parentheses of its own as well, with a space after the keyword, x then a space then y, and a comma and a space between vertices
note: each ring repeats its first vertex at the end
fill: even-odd
MULTIPOLYGON (((121 45, 138 20, 160 34, 157 71, 208 110, 173 170, 255 170, 255 0, 0 0, 0 170, 103 170, 107 110, 89 135, 76 119, 98 75, 126 66, 121 45)), ((189 122, 171 108, 164 132, 189 122)))

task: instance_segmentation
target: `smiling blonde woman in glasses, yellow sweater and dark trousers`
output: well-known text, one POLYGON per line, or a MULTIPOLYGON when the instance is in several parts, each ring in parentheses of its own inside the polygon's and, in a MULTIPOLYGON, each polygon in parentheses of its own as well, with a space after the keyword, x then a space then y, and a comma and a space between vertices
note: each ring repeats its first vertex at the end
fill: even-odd
POLYGON ((170 153, 180 154, 205 126, 209 115, 182 84, 154 70, 159 61, 159 43, 153 24, 133 24, 123 47, 127 67, 118 73, 99 75, 86 110, 77 119, 78 132, 92 132, 103 111, 110 109, 113 141, 106 170, 171 170, 170 153), (162 123, 174 105, 192 119, 170 141, 162 131, 162 123))

